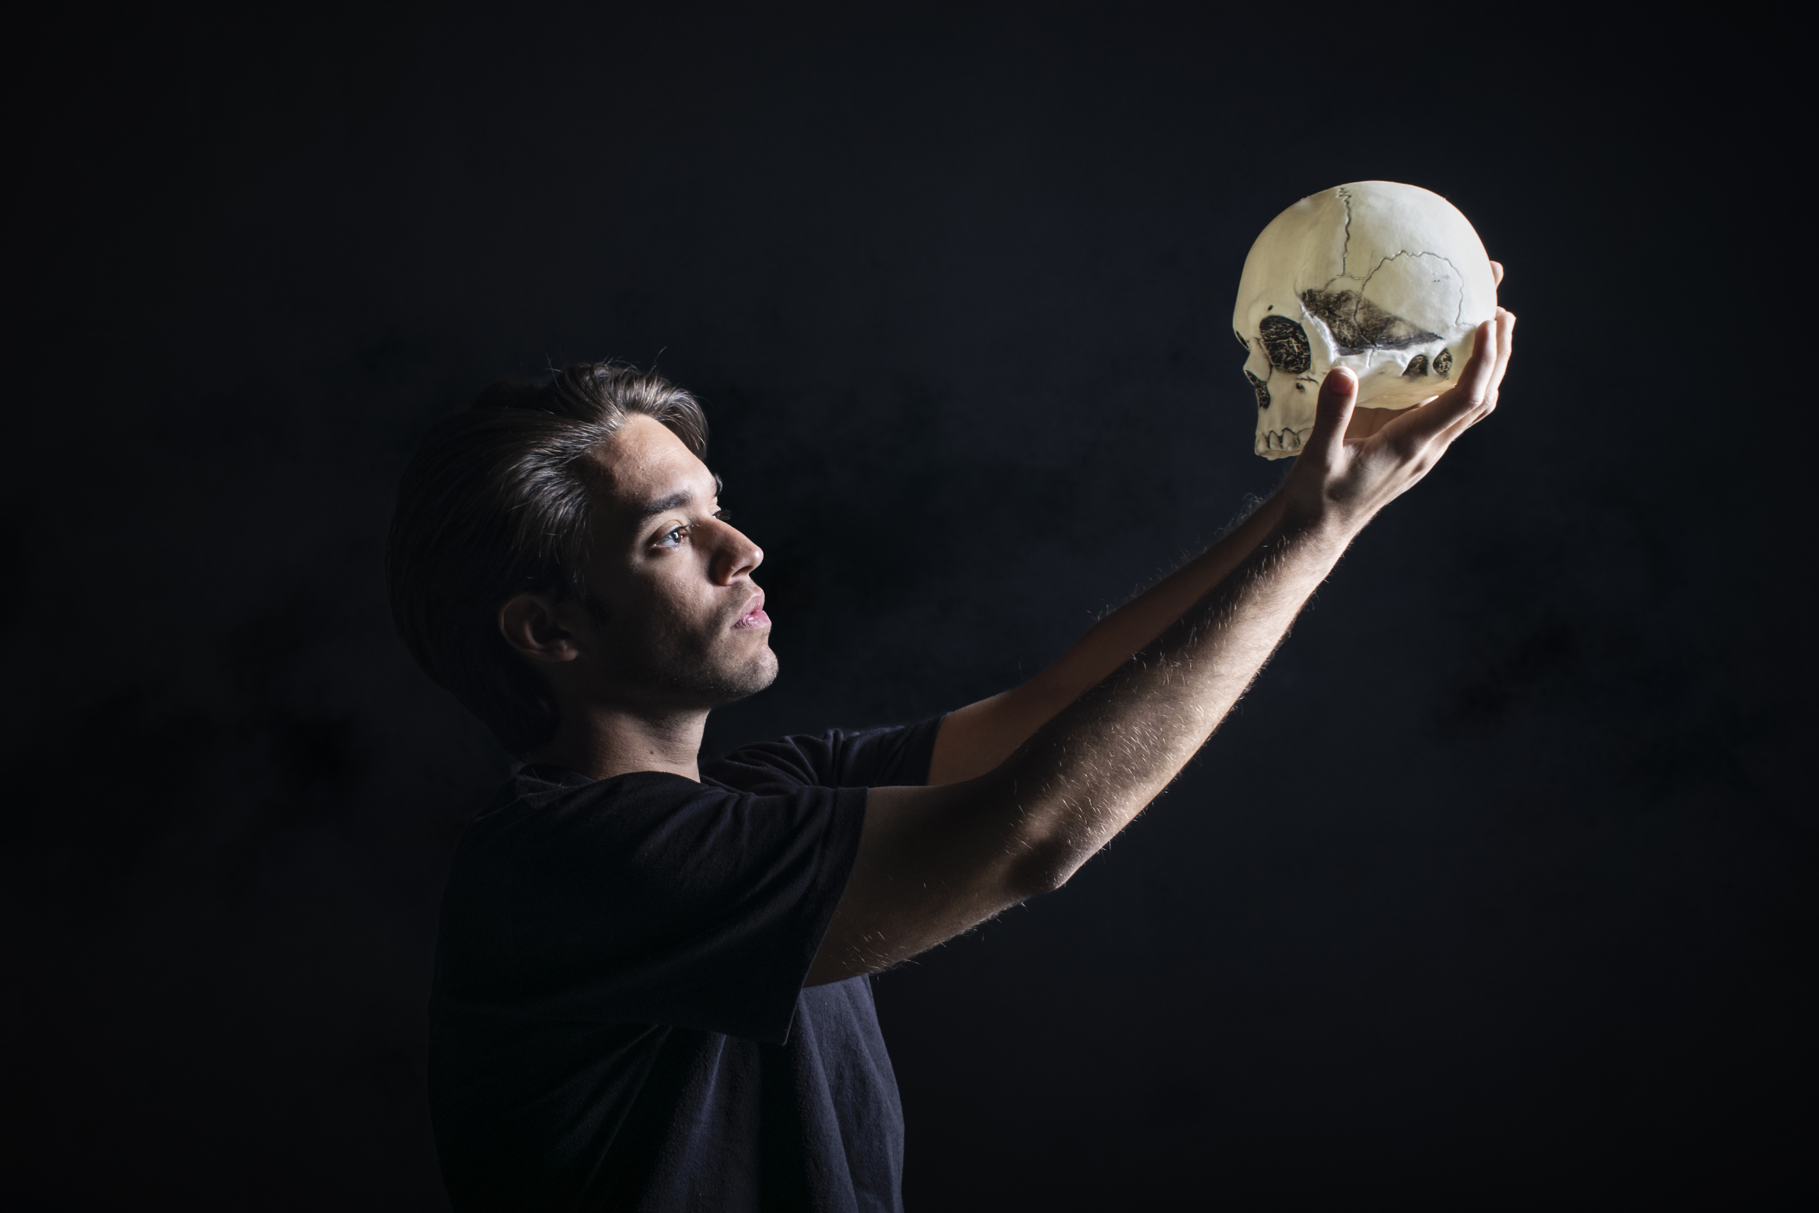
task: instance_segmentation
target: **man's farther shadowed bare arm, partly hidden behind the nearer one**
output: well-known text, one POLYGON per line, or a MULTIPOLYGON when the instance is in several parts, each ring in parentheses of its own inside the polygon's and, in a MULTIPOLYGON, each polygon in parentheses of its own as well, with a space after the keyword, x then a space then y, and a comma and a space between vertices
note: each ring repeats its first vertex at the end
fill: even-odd
POLYGON ((1271 496, 1211 547, 1093 624, 1053 666, 1011 691, 951 713, 942 722, 930 782, 955 784, 1004 762, 1039 727, 1204 598, 1281 518, 1282 500, 1271 496))

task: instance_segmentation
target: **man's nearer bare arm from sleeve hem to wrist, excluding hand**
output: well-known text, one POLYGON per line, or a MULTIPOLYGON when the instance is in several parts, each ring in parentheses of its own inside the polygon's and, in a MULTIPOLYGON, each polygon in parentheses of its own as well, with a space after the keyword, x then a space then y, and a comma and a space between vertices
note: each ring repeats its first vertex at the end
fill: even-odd
POLYGON ((808 984, 888 967, 1064 884, 1206 742, 1344 540, 1324 527, 1279 527, 988 775, 873 787, 808 984))

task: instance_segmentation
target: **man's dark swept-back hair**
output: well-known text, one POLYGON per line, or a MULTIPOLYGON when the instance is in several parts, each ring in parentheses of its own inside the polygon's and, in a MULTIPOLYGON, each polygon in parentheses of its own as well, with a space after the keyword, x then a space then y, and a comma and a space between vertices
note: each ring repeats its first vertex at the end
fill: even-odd
POLYGON ((386 544, 391 618, 411 657, 520 758, 557 731, 549 684, 511 651, 498 607, 518 593, 588 600, 588 451, 642 413, 697 456, 708 418, 689 393, 617 362, 508 380, 429 427, 404 469, 386 544))

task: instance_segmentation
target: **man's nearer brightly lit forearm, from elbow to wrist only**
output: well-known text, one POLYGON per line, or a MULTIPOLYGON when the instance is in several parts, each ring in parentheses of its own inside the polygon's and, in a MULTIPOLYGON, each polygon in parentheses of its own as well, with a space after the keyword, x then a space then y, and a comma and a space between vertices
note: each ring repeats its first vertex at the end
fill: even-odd
POLYGON ((1013 787, 1033 891, 1064 882, 1206 744, 1332 571, 1352 531, 1277 526, 1161 637, 982 782, 1013 787))

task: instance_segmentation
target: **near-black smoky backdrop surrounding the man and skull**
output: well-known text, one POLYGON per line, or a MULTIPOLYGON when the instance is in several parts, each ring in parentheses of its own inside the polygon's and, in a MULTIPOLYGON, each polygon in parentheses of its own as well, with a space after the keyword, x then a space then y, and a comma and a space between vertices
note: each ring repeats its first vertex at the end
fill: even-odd
POLYGON ((264 5, 16 44, 9 1186, 446 1208, 437 897, 509 767, 384 606, 433 418, 657 362, 784 669, 708 749, 920 718, 1270 491, 1239 269, 1364 178, 1508 266, 1502 407, 1108 855, 877 982, 906 1197, 1775 1182, 1814 646, 1770 251, 1810 200, 1730 75, 1759 49, 1468 16, 264 5))

